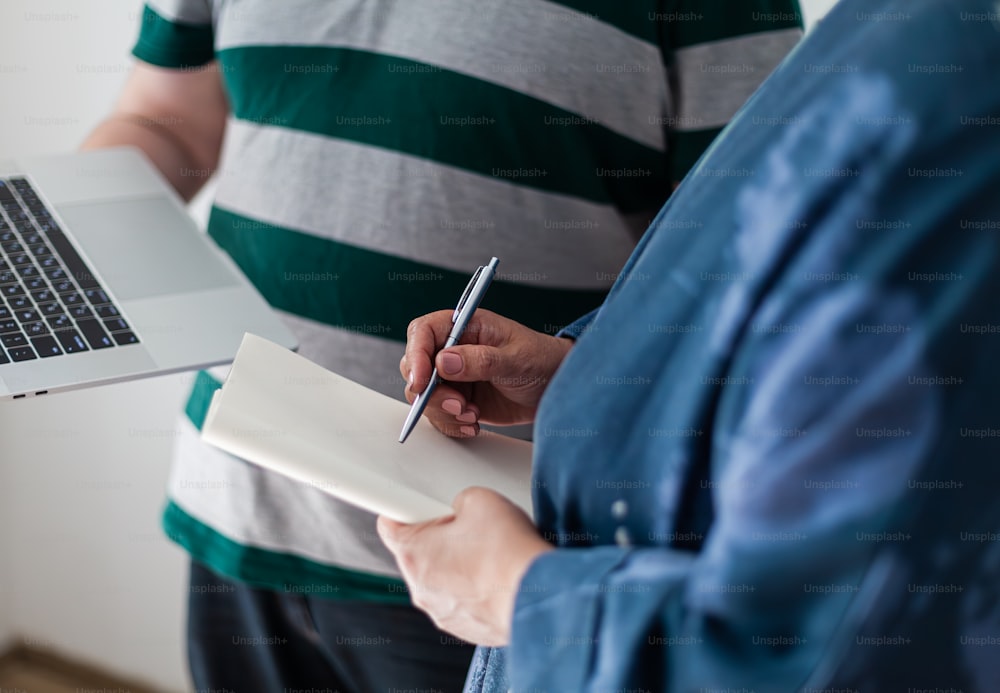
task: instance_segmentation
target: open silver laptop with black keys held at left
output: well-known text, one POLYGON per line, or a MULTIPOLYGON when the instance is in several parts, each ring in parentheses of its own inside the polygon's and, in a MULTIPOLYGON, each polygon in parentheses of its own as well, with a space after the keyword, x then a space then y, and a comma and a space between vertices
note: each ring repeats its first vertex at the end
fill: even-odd
POLYGON ((232 361, 295 338, 136 149, 0 162, 0 399, 232 361))

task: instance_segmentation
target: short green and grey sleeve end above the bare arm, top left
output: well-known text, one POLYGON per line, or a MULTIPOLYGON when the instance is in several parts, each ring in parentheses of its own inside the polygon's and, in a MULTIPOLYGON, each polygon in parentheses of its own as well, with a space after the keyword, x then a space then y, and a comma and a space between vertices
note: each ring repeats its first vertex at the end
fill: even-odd
POLYGON ((199 67, 215 56, 208 0, 156 0, 142 10, 132 55, 157 67, 199 67))

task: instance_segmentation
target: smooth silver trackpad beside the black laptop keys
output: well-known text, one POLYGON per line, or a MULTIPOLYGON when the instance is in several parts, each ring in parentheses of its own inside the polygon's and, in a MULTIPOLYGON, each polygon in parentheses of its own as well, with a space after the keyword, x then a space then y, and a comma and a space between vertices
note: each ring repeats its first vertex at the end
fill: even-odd
POLYGON ((120 300, 238 284, 211 241, 166 198, 60 205, 67 235, 120 300))

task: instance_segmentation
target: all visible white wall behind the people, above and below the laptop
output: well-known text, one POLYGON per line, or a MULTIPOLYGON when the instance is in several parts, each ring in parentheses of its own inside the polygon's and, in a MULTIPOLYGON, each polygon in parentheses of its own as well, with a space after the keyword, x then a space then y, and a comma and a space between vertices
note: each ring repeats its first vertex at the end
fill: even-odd
MULTIPOLYGON (((804 0, 814 22, 835 0, 804 0)), ((128 69, 139 0, 3 0, 0 158, 67 151, 128 69)), ((0 403, 0 640, 171 690, 184 560, 159 531, 189 376, 0 403)))

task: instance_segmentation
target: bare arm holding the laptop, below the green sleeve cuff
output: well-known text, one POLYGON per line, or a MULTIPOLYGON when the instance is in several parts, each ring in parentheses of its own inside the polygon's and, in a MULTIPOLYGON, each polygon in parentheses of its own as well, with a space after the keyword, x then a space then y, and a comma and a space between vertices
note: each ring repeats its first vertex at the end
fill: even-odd
POLYGON ((187 70, 137 63, 111 115, 82 148, 138 147, 190 200, 218 165, 228 111, 214 63, 187 70))

